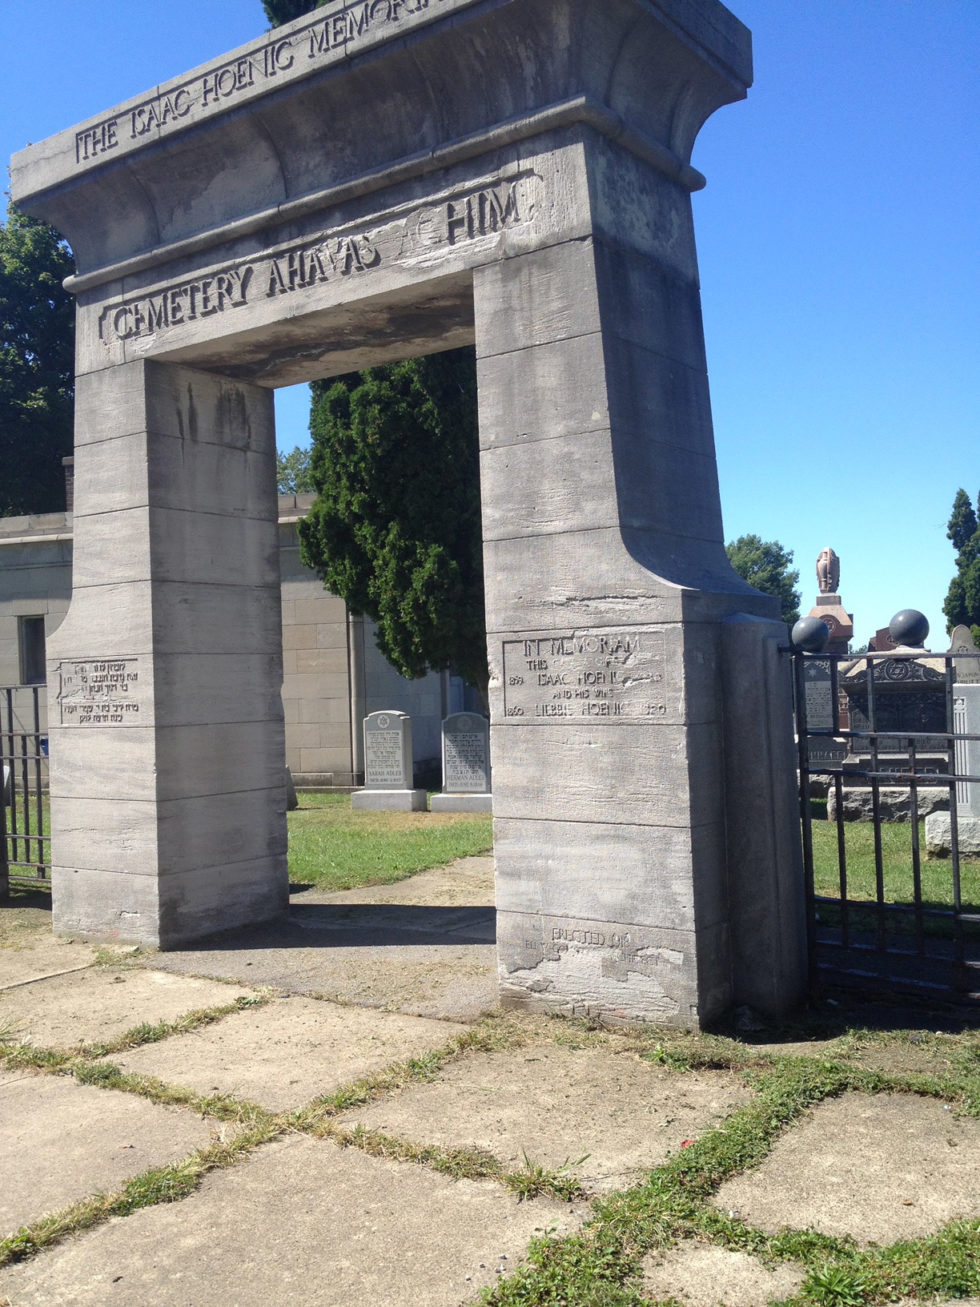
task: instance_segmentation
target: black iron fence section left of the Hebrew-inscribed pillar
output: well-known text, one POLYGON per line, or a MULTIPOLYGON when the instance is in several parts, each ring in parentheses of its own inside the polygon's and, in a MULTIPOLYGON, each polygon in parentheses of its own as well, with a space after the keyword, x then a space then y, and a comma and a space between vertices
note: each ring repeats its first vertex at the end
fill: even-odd
POLYGON ((0 687, 0 893, 9 881, 48 884, 51 835, 47 793, 44 687, 0 687))

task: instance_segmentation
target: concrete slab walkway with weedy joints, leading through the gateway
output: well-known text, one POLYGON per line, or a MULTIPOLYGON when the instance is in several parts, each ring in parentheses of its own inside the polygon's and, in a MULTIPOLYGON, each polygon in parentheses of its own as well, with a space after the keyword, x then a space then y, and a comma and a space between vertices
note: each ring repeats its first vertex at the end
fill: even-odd
MULTIPOLYGON (((0 1269, 0 1303, 472 1303, 753 1100, 736 1069, 659 1065, 673 1036, 494 1014, 493 936, 490 859, 298 893, 280 927, 149 957, 0 906, 0 1238, 43 1243, 77 1205, 0 1269), (578 1193, 504 1183, 542 1171, 578 1193)), ((847 1021, 750 1051, 941 1076, 972 1047, 847 1021)), ((845 1094, 712 1201, 764 1231, 920 1239, 980 1216, 979 1162, 980 1121, 942 1098, 845 1094)), ((645 1259, 642 1293, 741 1307, 804 1274, 689 1240, 645 1259)))

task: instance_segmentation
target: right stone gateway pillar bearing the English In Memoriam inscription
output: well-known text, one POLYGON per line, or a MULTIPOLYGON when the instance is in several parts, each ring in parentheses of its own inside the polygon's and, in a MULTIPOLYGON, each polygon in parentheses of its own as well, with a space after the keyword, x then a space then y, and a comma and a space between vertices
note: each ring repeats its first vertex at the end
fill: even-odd
POLYGON ((779 682, 787 633, 724 554, 687 192, 613 156, 584 140, 591 239, 476 276, 502 996, 698 1026, 738 1000, 755 932, 783 963, 760 1005, 805 979, 798 833, 794 853, 742 829, 792 829, 788 693, 727 738, 725 680, 779 682), (727 775, 762 737, 740 812, 727 775), (729 847, 767 859, 737 911, 729 847))

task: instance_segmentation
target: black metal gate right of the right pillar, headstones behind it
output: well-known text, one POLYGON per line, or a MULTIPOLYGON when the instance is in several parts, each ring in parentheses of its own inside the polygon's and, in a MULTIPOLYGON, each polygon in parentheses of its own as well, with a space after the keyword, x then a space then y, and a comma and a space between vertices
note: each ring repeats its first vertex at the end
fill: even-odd
POLYGON ((977 655, 792 660, 811 980, 979 1002, 977 655))

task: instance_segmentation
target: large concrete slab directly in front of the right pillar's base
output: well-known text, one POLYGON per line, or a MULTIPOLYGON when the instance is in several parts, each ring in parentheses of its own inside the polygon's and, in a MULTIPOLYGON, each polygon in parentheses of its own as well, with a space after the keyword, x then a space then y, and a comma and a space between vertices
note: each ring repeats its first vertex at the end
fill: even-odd
POLYGON ((632 1183, 750 1097, 728 1072, 678 1076, 634 1053, 536 1044, 470 1055, 341 1120, 425 1144, 476 1145, 515 1170, 525 1154, 549 1168, 584 1157, 568 1170, 596 1192, 632 1183))

